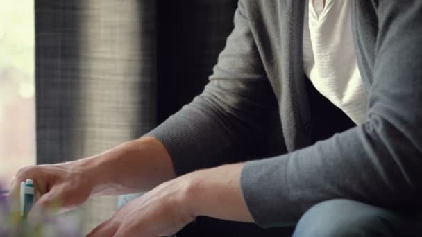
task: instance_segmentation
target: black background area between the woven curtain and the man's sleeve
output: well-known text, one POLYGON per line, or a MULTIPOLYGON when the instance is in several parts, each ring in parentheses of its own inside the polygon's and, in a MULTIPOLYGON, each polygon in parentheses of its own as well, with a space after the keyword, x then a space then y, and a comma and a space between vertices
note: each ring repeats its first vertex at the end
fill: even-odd
POLYGON ((203 90, 233 30, 237 0, 157 3, 160 123, 203 90))

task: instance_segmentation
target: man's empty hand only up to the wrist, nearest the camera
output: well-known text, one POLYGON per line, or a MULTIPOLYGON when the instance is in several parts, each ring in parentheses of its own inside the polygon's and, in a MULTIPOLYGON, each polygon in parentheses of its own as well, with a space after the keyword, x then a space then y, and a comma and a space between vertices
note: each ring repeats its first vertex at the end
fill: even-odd
POLYGON ((155 237, 175 234, 194 220, 186 202, 189 186, 186 176, 160 184, 128 202, 87 236, 155 237))

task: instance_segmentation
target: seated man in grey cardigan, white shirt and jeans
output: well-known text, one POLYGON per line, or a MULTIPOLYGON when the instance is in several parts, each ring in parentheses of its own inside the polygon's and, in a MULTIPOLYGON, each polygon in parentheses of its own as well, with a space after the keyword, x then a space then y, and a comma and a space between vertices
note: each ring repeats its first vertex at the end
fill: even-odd
POLYGON ((23 168, 12 191, 35 179, 33 214, 152 189, 88 236, 168 236, 197 216, 297 223, 294 236, 416 235, 421 13, 417 0, 241 0, 203 94, 140 139, 23 168), (355 126, 312 144, 307 80, 355 126), (211 168, 266 136, 274 107, 289 153, 211 168))

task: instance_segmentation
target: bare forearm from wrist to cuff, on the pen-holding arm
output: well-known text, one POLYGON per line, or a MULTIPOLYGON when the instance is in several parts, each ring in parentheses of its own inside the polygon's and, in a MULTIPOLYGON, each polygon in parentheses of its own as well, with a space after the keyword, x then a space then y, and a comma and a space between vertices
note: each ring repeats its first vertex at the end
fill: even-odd
POLYGON ((167 150, 153 137, 128 141, 78 162, 86 167, 92 195, 148 191, 176 177, 167 150))

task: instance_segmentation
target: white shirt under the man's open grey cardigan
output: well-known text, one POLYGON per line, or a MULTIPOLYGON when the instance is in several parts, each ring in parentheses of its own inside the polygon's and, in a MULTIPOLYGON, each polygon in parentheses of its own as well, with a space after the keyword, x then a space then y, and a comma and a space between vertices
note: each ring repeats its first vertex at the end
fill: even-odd
POLYGON ((303 64, 314 87, 356 124, 366 119, 366 91, 357 69, 348 0, 309 0, 303 64))

